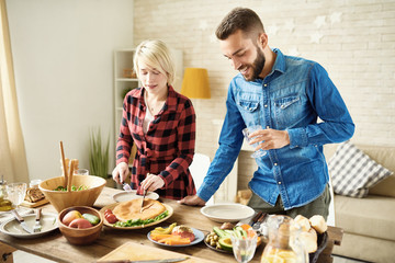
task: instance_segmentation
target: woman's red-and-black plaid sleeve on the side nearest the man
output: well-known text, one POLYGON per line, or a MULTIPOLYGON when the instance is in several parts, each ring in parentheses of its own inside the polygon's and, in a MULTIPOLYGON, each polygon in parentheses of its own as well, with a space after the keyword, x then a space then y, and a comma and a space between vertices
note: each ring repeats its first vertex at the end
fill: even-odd
POLYGON ((179 105, 181 108, 180 121, 177 127, 178 151, 180 155, 160 172, 165 181, 165 187, 168 187, 181 173, 187 174, 189 165, 192 163, 195 147, 195 112, 190 100, 179 105))

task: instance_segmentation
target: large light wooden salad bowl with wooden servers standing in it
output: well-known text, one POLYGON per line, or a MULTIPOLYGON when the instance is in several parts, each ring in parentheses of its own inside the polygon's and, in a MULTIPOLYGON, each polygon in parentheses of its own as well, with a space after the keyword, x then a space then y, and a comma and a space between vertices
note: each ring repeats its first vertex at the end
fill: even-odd
POLYGON ((71 185, 84 185, 88 188, 71 192, 54 191, 56 187, 65 185, 65 178, 58 176, 45 180, 38 185, 38 188, 55 209, 61 211, 70 206, 93 206, 105 183, 104 179, 94 175, 74 175, 71 185))

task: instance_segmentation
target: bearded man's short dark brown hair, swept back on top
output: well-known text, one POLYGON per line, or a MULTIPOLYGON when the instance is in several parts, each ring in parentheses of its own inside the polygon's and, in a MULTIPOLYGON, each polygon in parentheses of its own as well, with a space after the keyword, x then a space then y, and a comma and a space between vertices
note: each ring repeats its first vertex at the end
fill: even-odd
POLYGON ((264 33, 263 24, 256 12, 251 9, 235 8, 223 19, 215 35, 218 39, 225 41, 238 30, 250 36, 251 33, 264 33))

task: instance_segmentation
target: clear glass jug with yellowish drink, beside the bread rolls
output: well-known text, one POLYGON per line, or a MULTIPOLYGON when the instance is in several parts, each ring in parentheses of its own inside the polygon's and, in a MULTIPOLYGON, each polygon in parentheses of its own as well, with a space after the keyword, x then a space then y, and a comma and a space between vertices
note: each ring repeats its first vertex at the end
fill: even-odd
POLYGON ((273 215, 268 219, 269 241, 261 263, 308 263, 307 253, 298 241, 300 229, 289 216, 273 215))

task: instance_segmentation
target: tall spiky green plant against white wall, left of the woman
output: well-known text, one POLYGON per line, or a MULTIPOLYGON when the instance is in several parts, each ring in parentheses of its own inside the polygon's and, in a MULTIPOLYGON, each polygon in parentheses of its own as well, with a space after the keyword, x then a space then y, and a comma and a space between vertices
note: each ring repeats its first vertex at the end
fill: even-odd
POLYGON ((105 144, 102 142, 100 128, 90 134, 89 167, 90 173, 105 180, 109 179, 109 149, 110 136, 105 144))

